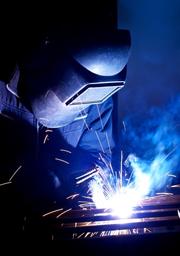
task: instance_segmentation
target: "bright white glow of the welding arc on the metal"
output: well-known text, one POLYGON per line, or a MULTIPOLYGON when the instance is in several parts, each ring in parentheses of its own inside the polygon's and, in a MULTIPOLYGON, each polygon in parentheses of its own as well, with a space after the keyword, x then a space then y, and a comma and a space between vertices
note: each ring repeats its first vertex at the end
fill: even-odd
POLYGON ((92 201, 98 209, 112 209, 112 215, 130 218, 133 208, 148 193, 148 181, 148 175, 142 173, 138 184, 133 181, 127 186, 122 186, 119 179, 113 184, 105 182, 103 186, 93 180, 89 183, 92 201))

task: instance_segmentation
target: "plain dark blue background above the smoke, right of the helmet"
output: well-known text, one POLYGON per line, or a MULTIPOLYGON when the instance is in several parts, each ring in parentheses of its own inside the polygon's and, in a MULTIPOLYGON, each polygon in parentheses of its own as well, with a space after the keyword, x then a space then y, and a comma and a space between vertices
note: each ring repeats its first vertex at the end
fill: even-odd
POLYGON ((131 33, 127 82, 118 93, 122 121, 141 109, 145 114, 152 106, 163 108, 180 91, 180 2, 118 0, 117 4, 118 28, 131 33))

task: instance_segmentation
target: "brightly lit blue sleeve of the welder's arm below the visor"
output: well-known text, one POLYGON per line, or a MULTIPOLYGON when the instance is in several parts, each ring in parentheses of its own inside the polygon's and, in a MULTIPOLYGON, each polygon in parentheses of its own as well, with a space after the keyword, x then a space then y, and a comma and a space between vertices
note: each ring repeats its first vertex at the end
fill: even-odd
POLYGON ((112 109, 112 97, 102 104, 89 107, 86 128, 77 147, 76 162, 80 169, 89 169, 95 165, 103 169, 110 168, 112 150, 115 147, 112 134, 112 109))

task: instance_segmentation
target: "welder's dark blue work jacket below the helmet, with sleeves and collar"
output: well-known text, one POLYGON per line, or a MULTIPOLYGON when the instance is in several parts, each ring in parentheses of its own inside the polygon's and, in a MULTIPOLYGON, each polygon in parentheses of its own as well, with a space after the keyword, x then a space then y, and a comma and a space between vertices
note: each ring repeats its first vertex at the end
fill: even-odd
POLYGON ((49 129, 38 122, 26 99, 0 81, 0 183, 7 183, 1 186, 6 197, 39 206, 64 204, 76 189, 85 193, 77 177, 96 165, 110 171, 112 108, 109 97, 89 106, 73 123, 49 129))

